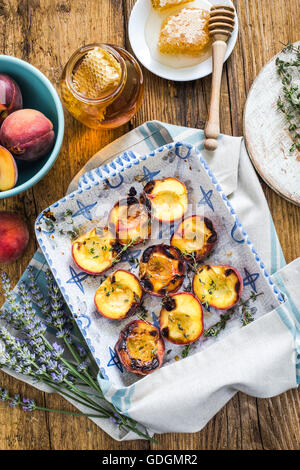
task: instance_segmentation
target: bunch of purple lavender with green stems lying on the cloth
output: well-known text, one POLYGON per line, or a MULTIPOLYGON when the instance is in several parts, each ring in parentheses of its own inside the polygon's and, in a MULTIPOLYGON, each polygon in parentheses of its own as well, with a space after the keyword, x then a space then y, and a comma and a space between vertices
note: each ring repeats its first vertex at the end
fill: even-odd
MULTIPOLYGON (((89 413, 71 414, 109 419, 121 429, 131 430, 153 440, 147 430, 141 431, 136 421, 123 416, 103 396, 97 381, 99 371, 81 335, 74 339, 74 322, 50 271, 45 273, 47 298, 37 285, 32 267, 28 268, 28 279, 28 283, 19 284, 17 295, 11 289, 7 274, 0 274, 6 298, 5 306, 0 311, 0 320, 7 324, 7 328, 0 326, 0 368, 6 367, 43 382, 90 410, 89 413), (56 332, 57 341, 51 343, 47 339, 47 327, 56 332), (66 358, 65 350, 71 355, 71 360, 66 358)), ((69 414, 39 407, 30 399, 24 402, 18 396, 12 398, 1 389, 0 398, 9 402, 10 406, 20 405, 27 411, 47 410, 69 414)))

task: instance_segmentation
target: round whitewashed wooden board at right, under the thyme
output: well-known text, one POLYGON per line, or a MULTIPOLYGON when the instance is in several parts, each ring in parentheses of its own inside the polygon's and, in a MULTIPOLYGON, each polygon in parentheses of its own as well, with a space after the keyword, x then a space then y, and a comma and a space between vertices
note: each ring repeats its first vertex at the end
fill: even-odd
POLYGON ((252 163, 263 180, 280 196, 300 206, 300 152, 290 153, 291 136, 284 115, 277 109, 282 94, 275 64, 278 55, 262 69, 250 89, 244 136, 252 163))

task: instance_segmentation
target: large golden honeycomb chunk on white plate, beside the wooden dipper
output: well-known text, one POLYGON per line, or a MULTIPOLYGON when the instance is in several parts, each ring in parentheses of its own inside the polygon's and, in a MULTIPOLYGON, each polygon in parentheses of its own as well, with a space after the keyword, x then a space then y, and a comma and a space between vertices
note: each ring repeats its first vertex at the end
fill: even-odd
POLYGON ((183 8, 168 16, 162 24, 158 47, 164 54, 197 55, 210 44, 209 12, 183 8))

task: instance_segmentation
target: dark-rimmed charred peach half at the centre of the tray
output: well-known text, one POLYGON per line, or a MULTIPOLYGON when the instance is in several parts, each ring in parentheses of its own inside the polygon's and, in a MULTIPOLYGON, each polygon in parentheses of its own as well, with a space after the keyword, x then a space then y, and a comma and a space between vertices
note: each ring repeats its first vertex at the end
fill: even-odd
POLYGON ((176 292, 183 283, 185 263, 174 246, 152 245, 140 259, 140 282, 145 292, 163 297, 176 292))

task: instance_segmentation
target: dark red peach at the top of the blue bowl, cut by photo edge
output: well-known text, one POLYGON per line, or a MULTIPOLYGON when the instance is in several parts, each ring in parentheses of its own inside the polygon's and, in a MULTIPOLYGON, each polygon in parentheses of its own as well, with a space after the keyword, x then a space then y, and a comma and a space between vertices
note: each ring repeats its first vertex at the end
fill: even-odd
POLYGON ((0 126, 14 111, 22 109, 23 99, 19 85, 4 73, 0 73, 0 126))

